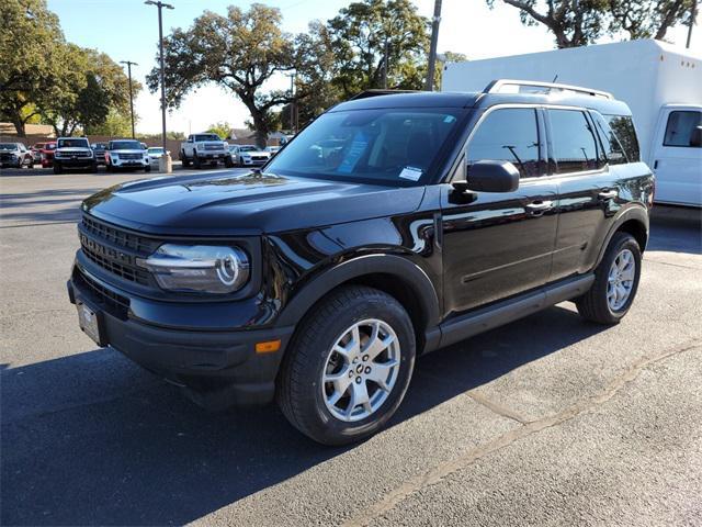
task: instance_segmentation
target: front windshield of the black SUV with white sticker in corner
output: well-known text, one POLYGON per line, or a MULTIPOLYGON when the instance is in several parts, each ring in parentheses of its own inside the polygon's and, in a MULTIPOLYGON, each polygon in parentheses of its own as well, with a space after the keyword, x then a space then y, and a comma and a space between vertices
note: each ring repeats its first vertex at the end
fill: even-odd
POLYGON ((321 115, 265 168, 282 176, 416 184, 455 131, 458 109, 378 109, 321 115))

